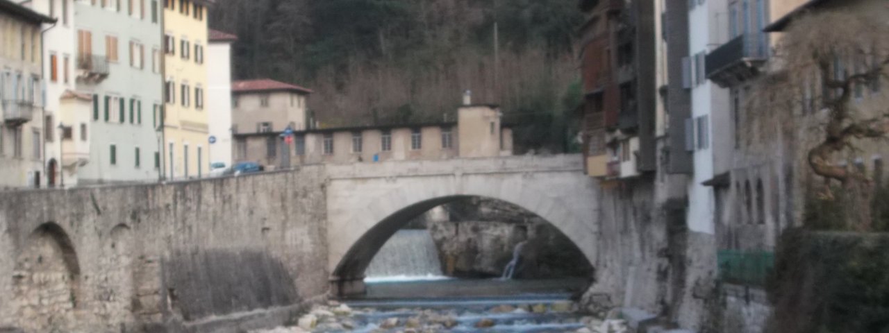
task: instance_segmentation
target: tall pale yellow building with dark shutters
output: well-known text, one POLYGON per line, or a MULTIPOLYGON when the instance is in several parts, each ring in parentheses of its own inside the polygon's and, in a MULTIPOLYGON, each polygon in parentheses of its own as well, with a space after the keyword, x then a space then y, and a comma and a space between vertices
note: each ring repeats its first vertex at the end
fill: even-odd
POLYGON ((164 0, 164 177, 200 178, 210 169, 207 6, 210 0, 164 0))

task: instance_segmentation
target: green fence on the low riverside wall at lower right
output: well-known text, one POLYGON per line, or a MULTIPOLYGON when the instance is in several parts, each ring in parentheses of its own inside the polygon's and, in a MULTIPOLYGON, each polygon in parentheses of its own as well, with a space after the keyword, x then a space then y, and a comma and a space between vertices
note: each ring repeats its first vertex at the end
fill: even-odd
POLYGON ((762 287, 772 273, 774 253, 763 250, 719 250, 719 280, 726 283, 762 287))

